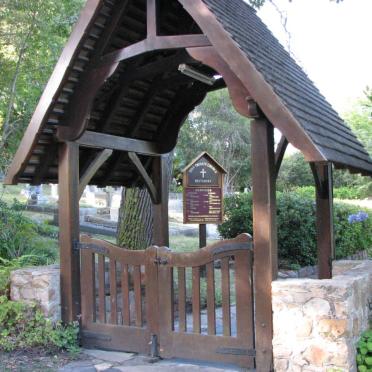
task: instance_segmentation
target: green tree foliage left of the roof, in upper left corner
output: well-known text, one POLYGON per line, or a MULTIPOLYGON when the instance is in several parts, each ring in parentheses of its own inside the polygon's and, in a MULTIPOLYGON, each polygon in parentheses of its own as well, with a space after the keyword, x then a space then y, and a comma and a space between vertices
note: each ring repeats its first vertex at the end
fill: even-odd
POLYGON ((83 2, 0 2, 0 170, 18 146, 83 2))

